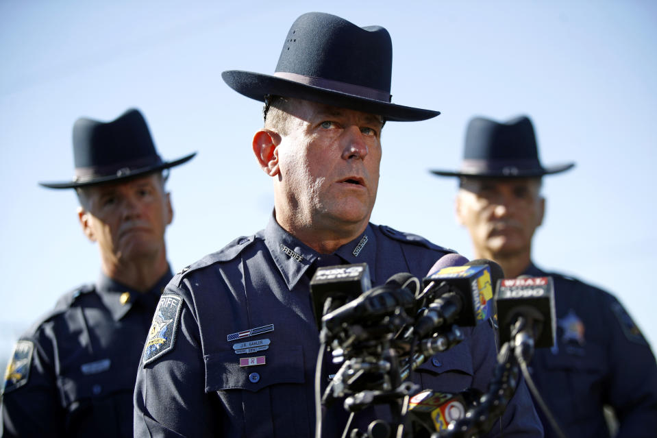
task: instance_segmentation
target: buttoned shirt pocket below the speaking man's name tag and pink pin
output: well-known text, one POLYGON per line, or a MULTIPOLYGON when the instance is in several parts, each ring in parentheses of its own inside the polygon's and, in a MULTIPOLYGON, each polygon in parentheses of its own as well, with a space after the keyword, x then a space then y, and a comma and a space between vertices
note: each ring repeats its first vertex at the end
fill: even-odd
POLYGON ((216 392, 224 404, 231 423, 225 427, 245 436, 308 435, 313 400, 307 400, 303 347, 280 345, 258 353, 205 356, 206 392, 216 392), (264 363, 240 366, 249 358, 264 363))

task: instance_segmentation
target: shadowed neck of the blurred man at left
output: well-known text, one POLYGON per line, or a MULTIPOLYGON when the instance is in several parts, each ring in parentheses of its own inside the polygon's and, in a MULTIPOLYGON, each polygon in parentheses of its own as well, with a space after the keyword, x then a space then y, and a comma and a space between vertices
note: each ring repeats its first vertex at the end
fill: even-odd
POLYGON ((169 270, 166 252, 139 260, 102 260, 103 273, 112 280, 138 292, 145 293, 169 270))

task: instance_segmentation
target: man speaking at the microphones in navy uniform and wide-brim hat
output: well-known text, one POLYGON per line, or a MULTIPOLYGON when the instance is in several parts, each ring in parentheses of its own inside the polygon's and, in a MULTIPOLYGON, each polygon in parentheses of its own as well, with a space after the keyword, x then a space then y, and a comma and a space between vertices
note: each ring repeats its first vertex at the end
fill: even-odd
MULTIPOLYGON (((376 286, 402 271, 423 277, 450 252, 369 222, 384 122, 438 114, 391 103, 391 67, 386 29, 312 12, 290 28, 273 75, 223 73, 238 93, 264 102, 252 147, 271 177, 274 210, 264 230, 190 265, 167 286, 159 308, 172 315, 175 343, 142 357, 137 437, 311 437, 316 413, 321 435, 343 433, 342 400, 315 402, 314 382, 323 391, 337 367, 327 360, 315 373, 321 314, 313 313, 312 273, 367 263, 376 286)), ((467 341, 430 358, 414 380, 442 391, 485 391, 493 329, 464 332, 467 341)), ((351 426, 364 431, 377 415, 366 409, 351 426)), ((493 435, 500 429, 541 435, 523 385, 493 435)))

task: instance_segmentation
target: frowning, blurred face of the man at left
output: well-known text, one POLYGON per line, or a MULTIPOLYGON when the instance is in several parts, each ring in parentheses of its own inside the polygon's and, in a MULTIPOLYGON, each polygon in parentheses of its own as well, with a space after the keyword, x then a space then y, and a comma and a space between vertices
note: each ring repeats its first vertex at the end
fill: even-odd
POLYGON ((103 260, 129 263, 164 249, 173 210, 160 175, 90 186, 82 199, 82 228, 98 243, 103 260))

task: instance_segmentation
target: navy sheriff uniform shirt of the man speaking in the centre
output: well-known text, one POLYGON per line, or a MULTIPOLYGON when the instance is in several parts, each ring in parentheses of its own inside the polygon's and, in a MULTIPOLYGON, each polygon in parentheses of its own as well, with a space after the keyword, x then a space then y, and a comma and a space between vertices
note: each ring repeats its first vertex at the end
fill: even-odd
MULTIPOLYGON (((400 271, 422 278, 447 252, 369 224, 336 254, 367 263, 377 285, 400 271)), ((265 230, 177 274, 162 295, 151 328, 159 334, 147 339, 138 371, 135 436, 314 437, 319 332, 305 274, 318 256, 272 217, 265 230)), ((493 328, 464 332, 465 341, 414 372, 421 387, 486 390, 495 364, 493 328)), ((345 423, 336 420, 342 413, 336 402, 324 419, 325 436, 342 433, 345 423)), ((542 436, 524 385, 502 427, 507 437, 542 436)), ((491 436, 498 435, 495 426, 491 436)))

